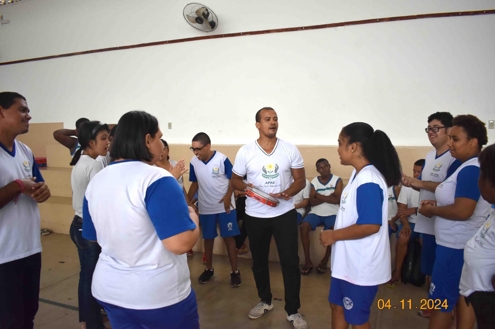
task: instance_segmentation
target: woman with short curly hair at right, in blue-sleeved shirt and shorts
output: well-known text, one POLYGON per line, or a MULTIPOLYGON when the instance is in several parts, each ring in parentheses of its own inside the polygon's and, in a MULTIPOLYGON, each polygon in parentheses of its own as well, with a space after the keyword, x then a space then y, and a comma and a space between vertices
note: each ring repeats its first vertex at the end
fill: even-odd
POLYGON ((480 195, 478 178, 481 148, 488 141, 487 128, 473 115, 459 115, 452 121, 447 146, 461 165, 435 190, 436 201, 423 200, 419 212, 435 217, 436 259, 428 299, 435 302, 430 329, 448 329, 451 311, 456 309, 457 328, 472 328, 475 314, 459 294, 468 240, 485 223, 490 204, 480 195))

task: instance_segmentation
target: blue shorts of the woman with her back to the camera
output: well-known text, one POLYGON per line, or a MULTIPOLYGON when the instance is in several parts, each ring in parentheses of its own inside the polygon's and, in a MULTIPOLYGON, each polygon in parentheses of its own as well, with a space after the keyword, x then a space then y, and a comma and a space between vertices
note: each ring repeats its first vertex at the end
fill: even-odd
POLYGON ((98 300, 108 315, 114 329, 163 328, 199 329, 198 304, 196 293, 191 288, 188 297, 180 302, 161 308, 134 310, 98 300))

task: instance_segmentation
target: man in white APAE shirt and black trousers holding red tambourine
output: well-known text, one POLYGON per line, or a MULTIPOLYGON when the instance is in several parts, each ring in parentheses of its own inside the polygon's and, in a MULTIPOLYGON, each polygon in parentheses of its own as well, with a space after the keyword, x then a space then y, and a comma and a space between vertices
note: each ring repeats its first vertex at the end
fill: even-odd
POLYGON ((292 199, 305 185, 302 156, 297 147, 277 138, 278 117, 264 107, 256 113, 259 138, 239 150, 232 168, 232 186, 246 190, 246 229, 252 272, 261 302, 249 311, 257 319, 273 309, 268 253, 272 235, 282 266, 287 320, 296 329, 308 326, 298 313, 300 273, 297 255, 297 212, 292 199), (247 175, 247 183, 243 177, 247 175), (293 182, 294 179, 294 182, 293 182))

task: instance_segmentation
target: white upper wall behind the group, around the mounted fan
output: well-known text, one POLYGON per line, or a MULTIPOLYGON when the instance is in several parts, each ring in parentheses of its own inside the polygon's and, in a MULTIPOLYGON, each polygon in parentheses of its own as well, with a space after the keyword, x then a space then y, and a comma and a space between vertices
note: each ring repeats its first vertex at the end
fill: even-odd
MULTIPOLYGON (((0 9, 0 62, 203 35, 182 18, 188 1, 25 0, 0 9)), ((208 0, 214 32, 234 33, 433 12, 493 9, 493 0, 208 0)), ((495 15, 420 19, 192 41, 0 66, 0 90, 22 93, 32 122, 79 117, 115 123, 143 109, 171 143, 198 131, 216 144, 257 136, 271 106, 279 136, 335 145, 364 121, 397 146, 428 146, 436 111, 495 120, 495 15), (173 129, 166 129, 172 122, 173 129)), ((489 130, 495 142, 495 130, 489 130)))

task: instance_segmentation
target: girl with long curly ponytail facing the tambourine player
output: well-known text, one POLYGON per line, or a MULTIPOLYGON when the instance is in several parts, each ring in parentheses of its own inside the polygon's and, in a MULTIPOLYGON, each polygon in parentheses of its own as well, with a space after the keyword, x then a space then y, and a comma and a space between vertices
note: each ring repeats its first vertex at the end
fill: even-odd
POLYGON ((391 278, 388 186, 399 183, 401 166, 387 134, 367 123, 342 128, 337 152, 341 164, 354 170, 342 192, 334 230, 320 233, 322 245, 333 245, 332 325, 369 328, 378 285, 391 278))

